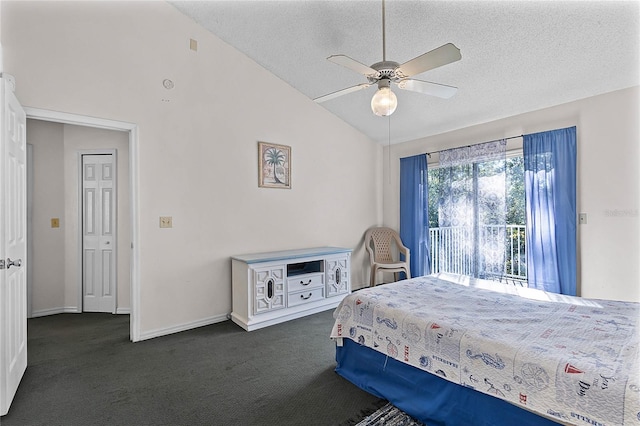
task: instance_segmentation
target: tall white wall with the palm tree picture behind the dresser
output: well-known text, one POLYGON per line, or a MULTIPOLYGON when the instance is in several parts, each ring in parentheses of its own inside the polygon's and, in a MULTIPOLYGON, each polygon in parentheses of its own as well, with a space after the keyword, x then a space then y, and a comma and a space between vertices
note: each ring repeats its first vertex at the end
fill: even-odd
POLYGON ((138 125, 143 335, 224 318, 234 254, 353 248, 366 283, 379 145, 164 2, 0 4, 23 105, 138 125), (258 141, 292 147, 291 190, 258 188, 258 141))

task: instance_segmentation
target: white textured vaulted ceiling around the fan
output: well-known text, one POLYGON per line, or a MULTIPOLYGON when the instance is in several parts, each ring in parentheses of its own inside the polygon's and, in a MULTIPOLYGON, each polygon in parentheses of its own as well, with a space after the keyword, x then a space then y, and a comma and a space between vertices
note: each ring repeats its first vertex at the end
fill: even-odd
MULTIPOLYGON (((170 2, 310 99, 364 76, 326 58, 382 60, 382 3, 170 2)), ((387 60, 403 63, 445 43, 462 60, 415 76, 458 87, 450 99, 394 90, 391 143, 485 123, 640 81, 638 1, 386 1, 387 60)), ((389 123, 371 112, 375 86, 322 105, 371 139, 389 123)))

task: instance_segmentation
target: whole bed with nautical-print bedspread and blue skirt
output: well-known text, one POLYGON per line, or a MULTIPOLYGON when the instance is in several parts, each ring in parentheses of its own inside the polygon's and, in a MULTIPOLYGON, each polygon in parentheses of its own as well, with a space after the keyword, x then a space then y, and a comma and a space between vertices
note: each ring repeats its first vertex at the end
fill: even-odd
POLYGON ((640 304, 432 275, 334 312, 336 372, 433 425, 640 425, 640 304))

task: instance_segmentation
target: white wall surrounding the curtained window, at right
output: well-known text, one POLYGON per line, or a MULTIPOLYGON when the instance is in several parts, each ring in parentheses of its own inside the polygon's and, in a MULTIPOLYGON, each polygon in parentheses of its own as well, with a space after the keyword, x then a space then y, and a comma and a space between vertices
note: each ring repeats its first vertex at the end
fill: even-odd
POLYGON ((402 157, 577 126, 577 210, 588 217, 578 226, 578 294, 640 301, 639 99, 634 87, 392 146, 384 221, 399 228, 402 157))

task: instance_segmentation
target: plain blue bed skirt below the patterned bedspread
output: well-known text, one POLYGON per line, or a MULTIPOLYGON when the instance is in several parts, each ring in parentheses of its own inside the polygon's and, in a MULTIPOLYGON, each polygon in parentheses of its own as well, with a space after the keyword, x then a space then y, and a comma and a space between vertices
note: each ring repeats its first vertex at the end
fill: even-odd
POLYGON ((428 426, 524 426, 557 423, 343 339, 336 372, 428 426))

